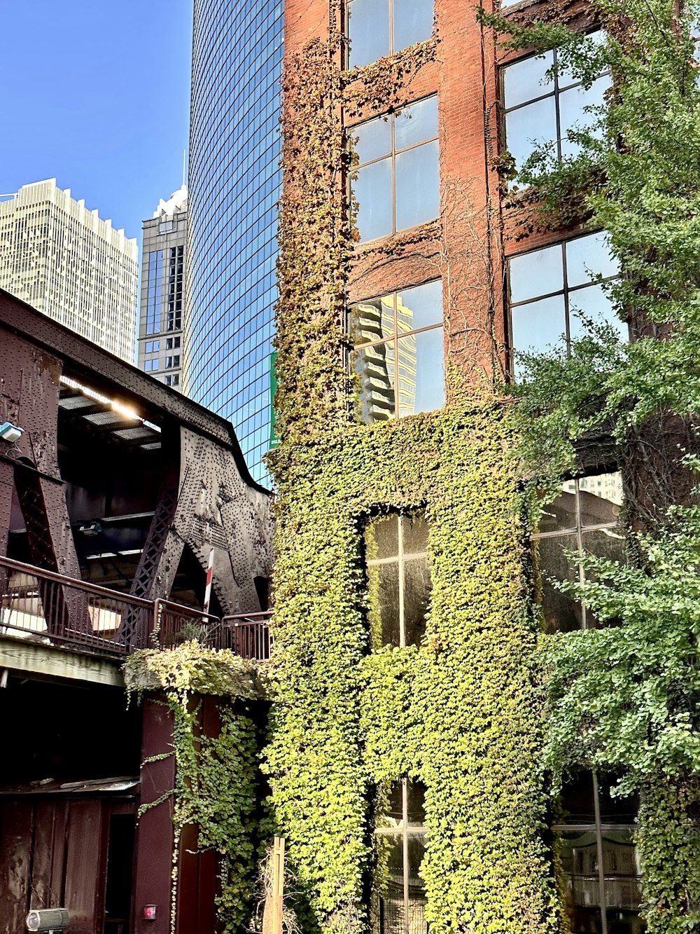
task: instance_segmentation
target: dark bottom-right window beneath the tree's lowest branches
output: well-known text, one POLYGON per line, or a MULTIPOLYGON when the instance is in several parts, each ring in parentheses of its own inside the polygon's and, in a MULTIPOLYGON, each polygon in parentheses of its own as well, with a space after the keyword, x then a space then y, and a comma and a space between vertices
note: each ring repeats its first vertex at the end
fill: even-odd
POLYGON ((641 934, 639 856, 633 842, 638 802, 612 798, 613 781, 590 771, 571 776, 562 790, 561 840, 571 930, 641 934))

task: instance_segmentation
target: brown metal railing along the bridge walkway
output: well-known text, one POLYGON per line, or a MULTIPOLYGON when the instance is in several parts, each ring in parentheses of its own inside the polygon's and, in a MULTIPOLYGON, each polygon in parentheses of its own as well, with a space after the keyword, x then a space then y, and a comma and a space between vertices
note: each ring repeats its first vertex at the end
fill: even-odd
POLYGON ((270 658, 270 613, 204 614, 167 600, 143 600, 0 556, 0 635, 123 657, 191 639, 270 658))

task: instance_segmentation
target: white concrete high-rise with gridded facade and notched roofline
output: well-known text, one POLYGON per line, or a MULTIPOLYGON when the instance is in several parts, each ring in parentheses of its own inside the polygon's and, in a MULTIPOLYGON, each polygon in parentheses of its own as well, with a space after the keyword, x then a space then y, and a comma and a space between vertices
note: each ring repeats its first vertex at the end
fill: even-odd
POLYGON ((0 202, 0 288, 133 362, 136 240, 55 178, 22 185, 0 202))

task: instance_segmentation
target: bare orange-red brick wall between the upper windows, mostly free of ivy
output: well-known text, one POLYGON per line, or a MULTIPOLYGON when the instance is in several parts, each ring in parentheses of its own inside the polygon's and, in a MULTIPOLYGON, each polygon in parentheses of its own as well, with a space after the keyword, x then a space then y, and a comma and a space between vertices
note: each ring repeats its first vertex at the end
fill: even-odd
MULTIPOLYGON (((527 5, 512 15, 528 16, 523 7, 527 5)), ((537 5, 539 14, 543 7, 537 5)), ((585 9, 581 0, 571 0, 564 15, 584 28, 585 9)), ((539 248, 572 231, 533 233, 530 205, 504 211, 501 204, 500 180, 492 162, 498 154, 498 66, 526 53, 498 50, 491 31, 476 21, 474 7, 458 0, 435 0, 435 13, 437 60, 408 73, 391 103, 399 106, 438 93, 441 219, 358 245, 349 294, 354 302, 442 276, 446 355, 469 378, 479 379, 492 369, 494 350, 497 368, 506 365, 504 256, 539 248), (492 330, 496 347, 489 336, 492 330)), ((340 21, 339 9, 337 17, 340 21)), ((329 19, 328 0, 287 0, 287 60, 310 40, 327 39, 329 19)), ((365 92, 363 71, 358 70, 348 87, 348 93, 360 99, 371 97, 365 92)), ((345 118, 345 125, 352 127, 385 109, 361 106, 345 118)))

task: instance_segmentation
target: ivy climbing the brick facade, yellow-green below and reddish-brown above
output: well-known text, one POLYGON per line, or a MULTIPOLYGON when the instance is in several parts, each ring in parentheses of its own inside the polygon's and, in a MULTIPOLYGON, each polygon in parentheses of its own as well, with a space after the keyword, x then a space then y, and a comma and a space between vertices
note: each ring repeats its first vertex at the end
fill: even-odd
MULTIPOLYGON (((328 41, 287 50, 284 81, 280 444, 269 460, 275 642, 263 766, 273 823, 287 839, 302 929, 355 934, 370 923, 382 876, 373 830, 388 786, 419 779, 431 930, 544 934, 566 925, 539 774, 542 672, 508 406, 488 375, 467 385, 473 360, 457 367, 448 336, 445 407, 362 425, 346 365, 348 293, 368 260, 345 206, 353 156, 343 112, 352 120, 396 106, 402 82, 420 84, 432 67, 436 44, 411 50, 410 74, 397 59, 359 83, 340 70, 340 48, 331 17, 328 41), (420 647, 372 650, 363 530, 371 517, 416 511, 429 526, 426 636, 420 647)), ((373 250, 372 267, 396 276, 406 250, 440 254, 425 277, 437 268, 443 278, 447 334, 469 318, 493 354, 494 280, 468 262, 469 249, 479 262, 487 252, 483 218, 465 225, 461 287, 440 227, 391 238, 373 250)))

